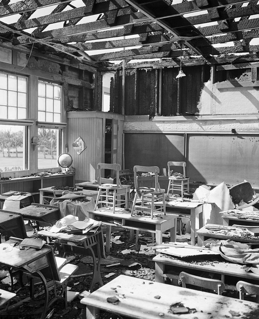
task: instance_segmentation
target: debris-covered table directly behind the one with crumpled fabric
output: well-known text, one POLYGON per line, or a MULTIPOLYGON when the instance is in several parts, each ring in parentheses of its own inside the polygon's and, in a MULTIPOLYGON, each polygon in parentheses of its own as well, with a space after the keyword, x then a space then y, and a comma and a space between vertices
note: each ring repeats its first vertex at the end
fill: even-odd
POLYGON ((207 224, 197 231, 198 246, 203 245, 203 241, 212 237, 217 239, 231 239, 233 241, 254 243, 259 245, 259 236, 252 236, 239 227, 207 224))

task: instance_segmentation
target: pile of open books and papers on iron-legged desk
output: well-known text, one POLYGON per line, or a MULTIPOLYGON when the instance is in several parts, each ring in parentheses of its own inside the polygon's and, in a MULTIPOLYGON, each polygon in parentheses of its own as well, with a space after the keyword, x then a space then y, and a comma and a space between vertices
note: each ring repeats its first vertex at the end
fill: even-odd
MULTIPOLYGON (((58 220, 54 226, 50 228, 52 233, 66 232, 68 234, 86 234, 87 232, 99 228, 100 221, 86 217, 85 220, 80 221, 73 215, 67 215, 58 220)), ((96 229, 96 231, 97 231, 96 229)))

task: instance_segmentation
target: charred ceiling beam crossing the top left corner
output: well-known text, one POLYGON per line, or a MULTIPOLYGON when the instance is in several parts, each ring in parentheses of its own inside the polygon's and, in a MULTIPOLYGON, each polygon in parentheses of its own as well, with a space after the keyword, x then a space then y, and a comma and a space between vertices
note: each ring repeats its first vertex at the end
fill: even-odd
POLYGON ((33 11, 38 8, 49 7, 52 5, 71 2, 71 0, 27 0, 19 1, 13 4, 6 4, 0 6, 0 18, 8 17, 17 13, 24 13, 27 11, 33 11))

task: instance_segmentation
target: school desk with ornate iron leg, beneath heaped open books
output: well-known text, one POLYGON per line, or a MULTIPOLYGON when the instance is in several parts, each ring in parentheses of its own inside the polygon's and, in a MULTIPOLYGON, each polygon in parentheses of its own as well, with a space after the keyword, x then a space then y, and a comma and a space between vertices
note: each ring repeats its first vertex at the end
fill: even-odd
POLYGON ((85 255, 93 257, 93 277, 90 285, 90 291, 93 291, 95 284, 99 283, 103 285, 100 262, 102 258, 106 258, 104 252, 104 242, 102 230, 97 231, 95 234, 86 235, 74 235, 65 233, 51 233, 49 231, 42 230, 38 232, 39 235, 49 238, 56 238, 62 245, 65 253, 75 253, 79 255, 85 255))

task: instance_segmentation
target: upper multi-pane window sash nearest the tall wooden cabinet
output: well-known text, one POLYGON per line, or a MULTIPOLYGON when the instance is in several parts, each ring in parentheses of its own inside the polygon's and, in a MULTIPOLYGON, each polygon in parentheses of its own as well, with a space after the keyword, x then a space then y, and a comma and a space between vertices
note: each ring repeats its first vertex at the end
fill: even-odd
POLYGON ((41 122, 61 121, 61 86, 39 81, 38 85, 38 120, 41 122))

